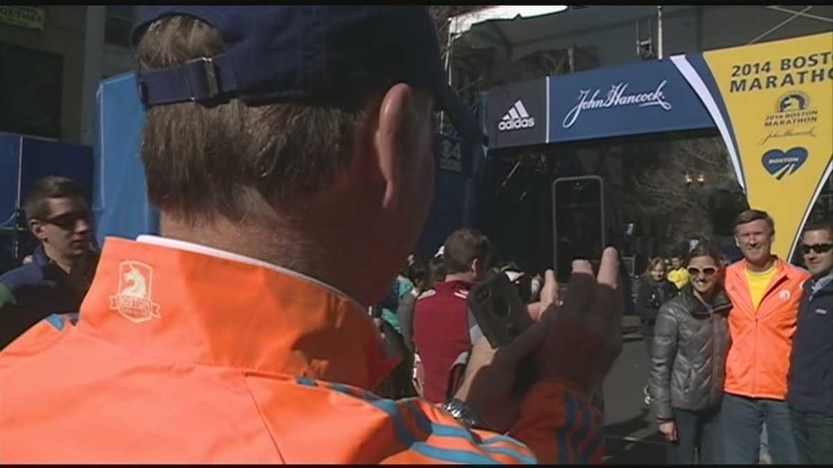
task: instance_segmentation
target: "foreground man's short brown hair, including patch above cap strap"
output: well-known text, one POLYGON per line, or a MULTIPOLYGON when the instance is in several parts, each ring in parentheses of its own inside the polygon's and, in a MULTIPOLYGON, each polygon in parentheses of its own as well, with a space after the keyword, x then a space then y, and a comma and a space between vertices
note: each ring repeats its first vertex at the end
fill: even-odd
MULTIPOLYGON (((137 66, 171 67, 224 48, 207 23, 163 17, 138 42, 137 66)), ((270 203, 313 197, 349 163, 355 124, 363 118, 361 108, 247 106, 236 98, 151 107, 142 130, 147 195, 184 222, 218 215, 239 220, 252 192, 270 203)))

